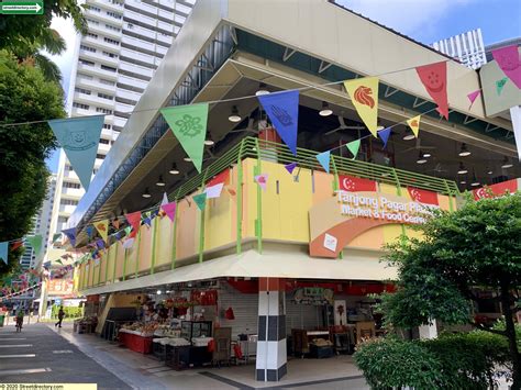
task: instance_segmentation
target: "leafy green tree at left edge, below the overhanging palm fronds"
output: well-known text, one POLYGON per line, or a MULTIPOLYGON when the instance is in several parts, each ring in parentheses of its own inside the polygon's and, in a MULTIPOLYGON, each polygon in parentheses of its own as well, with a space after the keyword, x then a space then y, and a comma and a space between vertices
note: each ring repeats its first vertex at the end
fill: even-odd
MULTIPOLYGON (((0 51, 0 241, 23 237, 42 205, 47 188, 45 158, 56 147, 47 119, 64 118, 63 91, 31 63, 0 51), (25 123, 5 126, 10 123, 25 123)), ((20 250, 0 261, 0 276, 9 272, 20 250)))

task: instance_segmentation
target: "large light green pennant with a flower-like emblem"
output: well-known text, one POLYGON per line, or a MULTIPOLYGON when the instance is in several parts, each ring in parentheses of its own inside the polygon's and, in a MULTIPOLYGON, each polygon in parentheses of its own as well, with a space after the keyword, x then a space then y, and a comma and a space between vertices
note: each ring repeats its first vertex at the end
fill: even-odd
POLYGON ((207 137, 208 103, 167 107, 159 110, 174 135, 201 172, 202 153, 207 137))

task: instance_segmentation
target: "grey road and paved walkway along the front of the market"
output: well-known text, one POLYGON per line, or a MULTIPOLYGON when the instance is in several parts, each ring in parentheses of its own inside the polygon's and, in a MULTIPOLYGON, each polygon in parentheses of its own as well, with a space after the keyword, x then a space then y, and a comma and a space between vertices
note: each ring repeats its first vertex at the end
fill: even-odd
POLYGON ((279 382, 257 382, 255 363, 182 371, 151 355, 131 352, 71 324, 0 327, 0 383, 98 383, 99 389, 324 389, 367 390, 351 356, 288 361, 279 382))

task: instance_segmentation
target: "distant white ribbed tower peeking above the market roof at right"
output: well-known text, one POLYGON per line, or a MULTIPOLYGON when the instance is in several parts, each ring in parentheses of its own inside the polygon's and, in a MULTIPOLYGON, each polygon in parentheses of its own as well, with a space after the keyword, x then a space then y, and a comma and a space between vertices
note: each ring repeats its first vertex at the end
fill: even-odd
POLYGON ((467 31, 463 34, 434 42, 432 47, 453 58, 457 58, 462 64, 472 69, 478 69, 487 64, 481 29, 467 31))

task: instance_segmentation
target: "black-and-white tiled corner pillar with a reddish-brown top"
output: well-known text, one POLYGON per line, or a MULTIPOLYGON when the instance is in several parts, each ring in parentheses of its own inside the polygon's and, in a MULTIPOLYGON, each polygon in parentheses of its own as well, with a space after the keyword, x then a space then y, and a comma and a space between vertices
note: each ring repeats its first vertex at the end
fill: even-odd
POLYGON ((256 380, 278 381, 287 374, 285 280, 258 279, 256 380))

